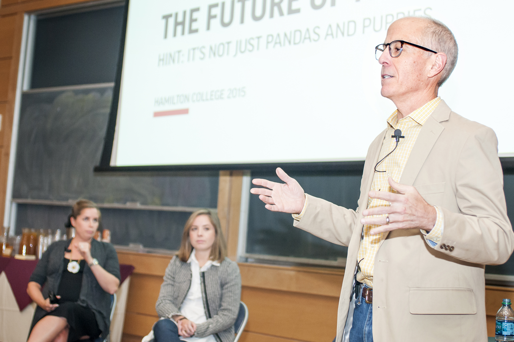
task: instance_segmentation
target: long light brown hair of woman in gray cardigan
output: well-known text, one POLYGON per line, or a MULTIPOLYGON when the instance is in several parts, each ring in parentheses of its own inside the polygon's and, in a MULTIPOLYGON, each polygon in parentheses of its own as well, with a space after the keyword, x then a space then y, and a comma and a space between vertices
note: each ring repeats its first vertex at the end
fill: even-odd
POLYGON ((216 238, 214 239, 214 243, 211 247, 211 255, 210 259, 213 261, 222 262, 227 256, 227 243, 225 242, 225 238, 223 237, 223 232, 221 230, 221 225, 219 224, 219 218, 215 211, 210 209, 200 209, 195 211, 189 216, 186 225, 184 226, 184 231, 182 232, 182 241, 180 242, 180 249, 177 252, 177 257, 183 261, 187 262, 189 257, 191 256, 191 252, 193 251, 193 246, 191 245, 191 241, 189 240, 189 230, 193 225, 193 221, 196 217, 200 215, 207 215, 211 221, 211 224, 214 226, 214 231, 216 232, 216 238))

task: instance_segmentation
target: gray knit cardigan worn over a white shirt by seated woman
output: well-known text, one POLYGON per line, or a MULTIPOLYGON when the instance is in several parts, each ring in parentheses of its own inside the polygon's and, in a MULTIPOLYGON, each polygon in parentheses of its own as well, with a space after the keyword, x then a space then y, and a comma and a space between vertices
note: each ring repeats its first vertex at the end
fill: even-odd
MULTIPOLYGON (((200 272, 207 321, 197 324, 194 337, 214 335, 218 342, 233 342, 234 322, 241 301, 241 274, 237 263, 225 258, 219 266, 200 272)), ((173 257, 166 268, 155 310, 159 317, 180 315, 191 286, 191 265, 173 257)))

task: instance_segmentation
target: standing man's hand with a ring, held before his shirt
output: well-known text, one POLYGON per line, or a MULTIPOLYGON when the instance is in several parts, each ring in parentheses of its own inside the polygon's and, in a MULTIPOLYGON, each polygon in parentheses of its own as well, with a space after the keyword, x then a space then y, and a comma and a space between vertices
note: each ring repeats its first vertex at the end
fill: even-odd
POLYGON ((376 207, 362 212, 364 216, 388 214, 386 216, 365 217, 360 220, 364 225, 381 225, 370 231, 371 235, 395 229, 418 228, 426 231, 432 230, 437 219, 435 208, 428 204, 418 193, 414 186, 396 183, 391 177, 388 179, 391 187, 398 193, 387 191, 370 191, 371 198, 383 199, 391 203, 389 207, 376 207))

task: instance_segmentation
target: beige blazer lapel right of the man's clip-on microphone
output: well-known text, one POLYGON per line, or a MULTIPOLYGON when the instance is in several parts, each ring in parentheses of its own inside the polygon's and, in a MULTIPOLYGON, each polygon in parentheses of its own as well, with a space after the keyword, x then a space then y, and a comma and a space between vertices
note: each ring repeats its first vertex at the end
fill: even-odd
POLYGON ((432 115, 427 118, 419 131, 407 164, 401 174, 401 184, 412 185, 414 183, 437 138, 444 130, 443 125, 439 123, 448 120, 450 112, 451 109, 446 105, 446 102, 441 100, 432 115))

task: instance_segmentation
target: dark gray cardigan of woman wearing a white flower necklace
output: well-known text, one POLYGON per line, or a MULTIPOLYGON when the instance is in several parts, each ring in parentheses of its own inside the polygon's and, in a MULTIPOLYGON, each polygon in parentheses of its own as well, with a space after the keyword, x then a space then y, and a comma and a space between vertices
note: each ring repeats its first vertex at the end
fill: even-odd
MULTIPOLYGON (((49 290, 57 293, 64 270, 64 252, 70 243, 71 240, 57 241, 51 244, 30 276, 30 281, 35 281, 41 286, 44 285, 42 293, 45 299, 48 298, 49 290)), ((107 272, 120 279, 118 254, 116 254, 113 245, 93 239, 91 241, 91 256, 96 258, 100 266, 107 272)), ((93 271, 87 265, 85 265, 84 275, 82 276, 82 287, 78 303, 93 311, 98 327, 102 331, 101 336, 106 337, 109 334, 109 326, 111 325, 111 295, 103 290, 96 280, 93 271)), ((45 314, 46 311, 41 307, 36 307, 30 331, 32 331, 35 323, 43 318, 45 314)))

